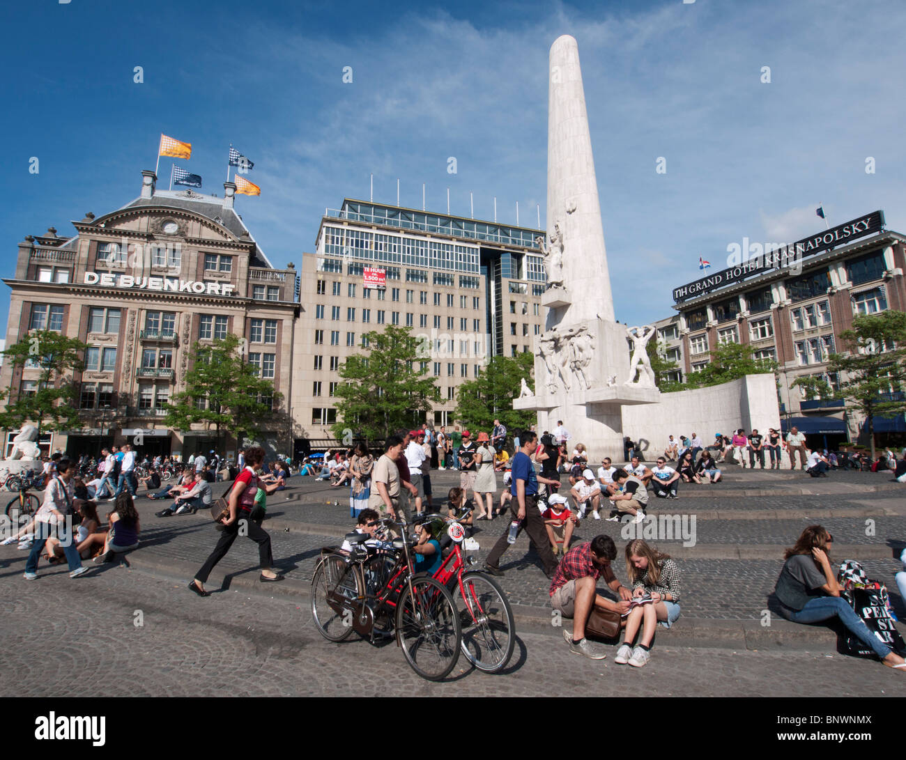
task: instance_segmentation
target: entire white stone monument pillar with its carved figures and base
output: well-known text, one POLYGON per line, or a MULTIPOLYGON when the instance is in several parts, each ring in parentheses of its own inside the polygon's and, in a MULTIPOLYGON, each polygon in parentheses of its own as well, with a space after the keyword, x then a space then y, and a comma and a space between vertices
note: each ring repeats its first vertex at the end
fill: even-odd
MULTIPOLYGON (((547 290, 545 332, 535 342, 535 396, 514 409, 536 409, 538 429, 557 420, 590 456, 622 461, 622 408, 660 398, 647 382, 630 378, 624 325, 613 313, 610 272, 592 138, 585 111, 579 48, 559 37, 549 60, 547 121, 547 290), (627 380, 628 379, 628 380, 627 380)), ((642 349, 643 350, 643 349, 642 349)), ((635 373, 633 373, 634 376, 635 373)), ((650 380, 643 375, 644 380, 650 380)))

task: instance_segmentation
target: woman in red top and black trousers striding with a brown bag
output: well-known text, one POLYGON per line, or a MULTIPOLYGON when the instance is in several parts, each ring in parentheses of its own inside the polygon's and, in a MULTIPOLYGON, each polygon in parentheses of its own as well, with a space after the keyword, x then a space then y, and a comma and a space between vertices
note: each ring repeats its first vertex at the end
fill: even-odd
POLYGON ((266 494, 273 494, 277 490, 277 484, 273 483, 268 486, 259 485, 260 478, 257 470, 265 460, 265 450, 259 446, 246 448, 246 468, 239 473, 233 486, 229 491, 229 515, 221 519, 223 524, 223 533, 217 541, 217 546, 201 566, 195 578, 188 584, 188 588, 197 593, 198 596, 209 596, 210 593, 205 591, 205 582, 207 576, 211 574, 214 566, 220 562, 226 553, 230 550, 236 536, 239 534, 239 528, 242 525, 246 527, 246 535, 258 544, 258 557, 261 562, 261 575, 258 576, 261 582, 282 581, 284 576, 278 575, 271 570, 274 564, 274 555, 271 553, 271 537, 261 527, 261 520, 252 516, 255 509, 255 496, 258 494, 258 488, 261 487, 266 494))

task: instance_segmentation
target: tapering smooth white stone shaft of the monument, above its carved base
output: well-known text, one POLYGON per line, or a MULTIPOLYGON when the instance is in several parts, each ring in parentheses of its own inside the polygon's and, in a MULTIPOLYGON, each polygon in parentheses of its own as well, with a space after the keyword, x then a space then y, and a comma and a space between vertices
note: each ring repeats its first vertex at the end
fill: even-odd
POLYGON ((554 307, 549 319, 614 322, 579 46, 569 34, 551 45, 548 73, 547 231, 550 236, 558 224, 563 232, 563 274, 570 296, 569 305, 554 307))

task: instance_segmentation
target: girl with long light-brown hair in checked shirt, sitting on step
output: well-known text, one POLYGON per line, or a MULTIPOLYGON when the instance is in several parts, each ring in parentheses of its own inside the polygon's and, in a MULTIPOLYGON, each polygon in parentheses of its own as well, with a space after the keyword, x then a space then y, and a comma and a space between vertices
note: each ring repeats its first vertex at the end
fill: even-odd
POLYGON ((670 628, 679 618, 679 568, 669 554, 662 554, 637 538, 626 544, 626 573, 632 598, 651 597, 651 602, 631 607, 625 621, 626 635, 613 661, 617 665, 643 668, 650 659, 651 641, 658 623, 670 628), (640 628, 641 639, 633 649, 631 643, 640 628))

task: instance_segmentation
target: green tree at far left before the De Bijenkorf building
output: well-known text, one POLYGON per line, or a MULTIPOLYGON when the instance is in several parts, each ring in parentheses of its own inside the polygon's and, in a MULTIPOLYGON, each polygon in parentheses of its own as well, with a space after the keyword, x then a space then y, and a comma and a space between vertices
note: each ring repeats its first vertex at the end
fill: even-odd
POLYGON ((72 372, 84 368, 83 351, 88 346, 53 330, 29 332, 4 351, 14 368, 26 364, 39 370, 34 393, 14 393, 0 412, 0 426, 21 428, 34 423, 38 435, 47 430, 79 427, 78 397, 72 372))

